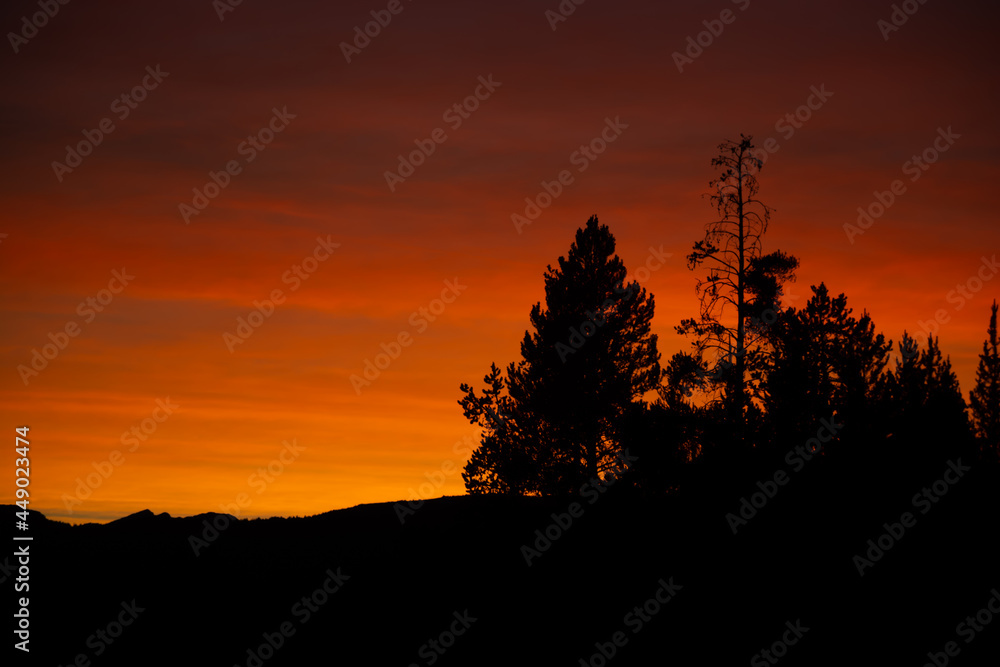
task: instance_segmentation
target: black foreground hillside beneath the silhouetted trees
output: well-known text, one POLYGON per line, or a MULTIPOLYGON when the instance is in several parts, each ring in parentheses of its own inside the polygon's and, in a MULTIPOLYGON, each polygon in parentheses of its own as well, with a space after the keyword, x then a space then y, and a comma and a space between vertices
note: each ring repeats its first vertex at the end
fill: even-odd
POLYGON ((205 522, 221 515, 70 527, 33 513, 31 653, 12 649, 5 614, 3 664, 1000 664, 996 465, 848 475, 815 461, 734 535, 727 513, 780 468, 669 498, 619 485, 572 501, 442 498, 405 523, 391 503, 233 520, 214 539, 205 522), (914 498, 924 487, 936 500, 914 498), (582 514, 550 527, 571 502, 582 514), (854 556, 884 524, 899 534, 905 512, 910 527, 861 576, 854 556), (522 545, 539 548, 530 566, 522 545))

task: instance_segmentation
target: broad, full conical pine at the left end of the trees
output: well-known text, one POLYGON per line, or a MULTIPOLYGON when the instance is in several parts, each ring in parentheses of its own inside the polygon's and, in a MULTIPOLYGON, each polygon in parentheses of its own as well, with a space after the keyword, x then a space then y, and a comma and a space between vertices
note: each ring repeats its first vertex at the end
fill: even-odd
POLYGON ((461 386, 466 417, 486 426, 463 475, 470 492, 570 493, 617 465, 626 411, 658 386, 661 369, 653 296, 624 284, 614 253, 614 236, 593 216, 559 267, 548 267, 545 308, 531 310, 522 360, 503 382, 487 376, 486 404, 508 413, 505 426, 485 425, 480 399, 461 386))

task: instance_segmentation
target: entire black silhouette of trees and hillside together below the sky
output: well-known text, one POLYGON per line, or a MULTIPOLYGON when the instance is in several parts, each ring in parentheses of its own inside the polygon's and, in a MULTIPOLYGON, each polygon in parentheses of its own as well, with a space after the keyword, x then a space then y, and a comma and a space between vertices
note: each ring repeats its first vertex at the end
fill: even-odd
MULTIPOLYGON (((690 350, 661 363, 653 296, 591 218, 545 274, 522 359, 462 385, 482 428, 468 495, 100 526, 31 512, 30 663, 8 662, 996 664, 996 303, 968 403, 937 338, 894 344, 823 284, 784 306, 798 260, 763 252, 762 163, 747 137, 721 148, 690 350)), ((12 554, 5 586, 28 576, 12 554)))

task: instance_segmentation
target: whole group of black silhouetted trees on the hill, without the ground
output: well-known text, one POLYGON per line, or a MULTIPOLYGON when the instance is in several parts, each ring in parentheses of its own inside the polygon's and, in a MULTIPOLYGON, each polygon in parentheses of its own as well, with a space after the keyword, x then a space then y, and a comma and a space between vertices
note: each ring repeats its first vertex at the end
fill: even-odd
POLYGON ((576 493, 620 477, 626 451, 636 459, 629 486, 645 495, 785 465, 796 447, 837 474, 900 483, 950 459, 1000 458, 996 301, 968 402, 937 337, 904 331, 894 344, 824 283, 801 308, 783 306, 799 261, 763 253, 763 162, 748 136, 719 150, 718 218, 688 256, 704 272, 700 308, 676 327, 691 350, 661 364, 653 295, 626 281, 614 236, 591 217, 545 273, 522 359, 506 373, 493 364, 478 394, 460 386, 482 429, 463 473, 470 493, 576 493))

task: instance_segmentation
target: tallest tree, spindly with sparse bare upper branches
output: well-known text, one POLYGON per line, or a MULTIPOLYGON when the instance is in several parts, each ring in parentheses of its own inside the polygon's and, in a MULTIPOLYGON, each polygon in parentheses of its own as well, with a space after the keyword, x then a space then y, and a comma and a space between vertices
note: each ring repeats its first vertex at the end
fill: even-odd
POLYGON ((764 161, 752 137, 741 134, 740 141, 721 143, 712 166, 718 175, 709 182, 711 201, 719 218, 705 226, 705 237, 687 258, 689 269, 708 269, 696 287, 701 309, 697 318, 677 327, 678 333, 696 337, 689 355, 694 363, 678 359, 677 366, 707 369, 698 384, 724 391, 727 414, 742 440, 751 382, 761 379, 766 328, 777 319, 781 286, 799 263, 780 251, 763 254, 761 237, 772 209, 757 198, 756 174, 764 161))

